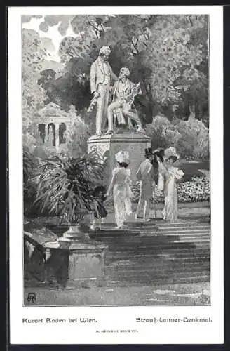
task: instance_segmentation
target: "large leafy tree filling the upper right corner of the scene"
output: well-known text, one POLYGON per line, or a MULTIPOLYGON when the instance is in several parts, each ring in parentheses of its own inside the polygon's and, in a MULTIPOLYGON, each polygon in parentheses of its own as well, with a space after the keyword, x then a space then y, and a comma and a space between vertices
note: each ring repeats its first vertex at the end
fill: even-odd
POLYGON ((208 94, 208 18, 207 16, 163 15, 152 28, 144 53, 144 65, 151 69, 154 100, 161 105, 196 103, 202 92, 208 94))

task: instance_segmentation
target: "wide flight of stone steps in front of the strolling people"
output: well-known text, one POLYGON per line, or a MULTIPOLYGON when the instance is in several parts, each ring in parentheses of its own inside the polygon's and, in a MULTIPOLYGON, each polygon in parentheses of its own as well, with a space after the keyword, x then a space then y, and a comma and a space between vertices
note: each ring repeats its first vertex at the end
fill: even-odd
POLYGON ((203 283, 210 280, 210 225, 130 221, 125 230, 105 223, 90 237, 109 246, 107 286, 203 283))

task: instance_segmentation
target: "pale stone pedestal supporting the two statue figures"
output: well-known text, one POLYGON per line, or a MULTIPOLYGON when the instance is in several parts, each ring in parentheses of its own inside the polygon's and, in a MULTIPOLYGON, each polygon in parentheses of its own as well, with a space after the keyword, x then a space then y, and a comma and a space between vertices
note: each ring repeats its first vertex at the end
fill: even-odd
POLYGON ((129 168, 132 180, 137 180, 136 173, 140 163, 144 161, 144 149, 151 147, 151 139, 144 134, 124 133, 113 135, 92 135, 88 139, 88 152, 97 150, 107 157, 105 166, 105 183, 109 183, 111 172, 116 167, 115 154, 120 150, 128 151, 130 154, 129 168))

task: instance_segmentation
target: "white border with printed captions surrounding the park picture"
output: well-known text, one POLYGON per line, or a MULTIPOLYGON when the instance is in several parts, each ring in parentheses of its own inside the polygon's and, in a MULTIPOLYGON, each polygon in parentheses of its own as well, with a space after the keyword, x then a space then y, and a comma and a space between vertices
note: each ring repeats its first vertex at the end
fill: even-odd
POLYGON ((8 10, 10 341, 13 344, 219 344, 224 342, 223 274, 223 9, 222 6, 25 7, 8 10), (38 14, 209 14, 210 140, 212 218, 212 306, 206 307, 22 307, 22 114, 21 15, 38 14), (122 317, 121 317, 122 316, 122 317), (212 323, 137 325, 136 317, 211 317, 212 323), (22 324, 22 317, 96 317, 97 329, 138 333, 95 333, 95 326, 22 324), (166 337, 167 336, 167 337, 166 337))

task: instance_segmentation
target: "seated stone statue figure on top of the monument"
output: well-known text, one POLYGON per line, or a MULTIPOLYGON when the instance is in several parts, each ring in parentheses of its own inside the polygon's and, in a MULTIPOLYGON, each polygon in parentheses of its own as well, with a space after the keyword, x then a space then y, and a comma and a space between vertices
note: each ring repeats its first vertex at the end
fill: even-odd
POLYGON ((122 67, 119 72, 119 80, 115 82, 113 88, 113 102, 108 107, 108 131, 107 134, 114 133, 114 117, 117 119, 119 124, 126 124, 124 115, 128 117, 128 124, 130 126, 130 120, 135 121, 137 124, 137 132, 144 133, 141 121, 138 117, 137 111, 133 112, 131 107, 133 105, 132 89, 137 88, 137 93, 141 94, 142 91, 138 85, 132 83, 128 79, 130 71, 127 67, 122 67))

